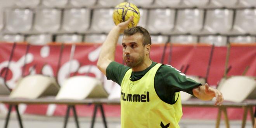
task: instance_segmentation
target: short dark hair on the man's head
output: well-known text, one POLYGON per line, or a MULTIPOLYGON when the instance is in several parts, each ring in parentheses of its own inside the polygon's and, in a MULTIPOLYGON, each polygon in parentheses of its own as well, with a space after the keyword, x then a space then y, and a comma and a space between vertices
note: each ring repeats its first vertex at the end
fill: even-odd
POLYGON ((132 36, 136 33, 140 33, 143 35, 143 46, 150 44, 151 45, 151 37, 147 29, 144 29, 143 27, 136 26, 136 27, 131 27, 130 29, 126 29, 124 31, 124 35, 126 36, 132 36))

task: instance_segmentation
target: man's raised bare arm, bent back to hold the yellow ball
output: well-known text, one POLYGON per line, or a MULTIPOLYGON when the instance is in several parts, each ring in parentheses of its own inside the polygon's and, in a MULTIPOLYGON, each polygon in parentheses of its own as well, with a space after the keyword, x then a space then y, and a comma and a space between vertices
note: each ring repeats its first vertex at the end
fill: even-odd
POLYGON ((102 44, 100 51, 99 60, 97 62, 97 67, 102 73, 106 75, 106 69, 109 63, 114 61, 114 56, 116 52, 116 44, 118 42, 119 35, 125 31, 128 27, 128 24, 133 20, 133 17, 130 17, 129 20, 121 22, 117 26, 113 27, 109 34, 107 35, 106 40, 102 44))

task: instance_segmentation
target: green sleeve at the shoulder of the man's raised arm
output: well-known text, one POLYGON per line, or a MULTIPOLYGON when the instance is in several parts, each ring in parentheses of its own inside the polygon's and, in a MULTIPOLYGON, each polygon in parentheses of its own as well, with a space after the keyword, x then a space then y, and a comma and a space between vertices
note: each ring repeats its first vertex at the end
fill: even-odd
POLYGON ((112 80, 117 84, 121 85, 123 78, 125 77, 125 73, 129 70, 130 67, 112 61, 106 69, 106 76, 108 80, 112 80))

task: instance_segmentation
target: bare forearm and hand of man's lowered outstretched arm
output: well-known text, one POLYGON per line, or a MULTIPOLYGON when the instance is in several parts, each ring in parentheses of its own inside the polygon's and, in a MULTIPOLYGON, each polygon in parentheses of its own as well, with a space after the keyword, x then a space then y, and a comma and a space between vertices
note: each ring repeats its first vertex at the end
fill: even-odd
POLYGON ((217 89, 209 87, 208 84, 194 88, 193 94, 195 97, 204 101, 208 101, 213 99, 213 97, 216 97, 216 102, 214 105, 218 105, 218 104, 221 105, 221 103, 224 100, 222 93, 217 89))

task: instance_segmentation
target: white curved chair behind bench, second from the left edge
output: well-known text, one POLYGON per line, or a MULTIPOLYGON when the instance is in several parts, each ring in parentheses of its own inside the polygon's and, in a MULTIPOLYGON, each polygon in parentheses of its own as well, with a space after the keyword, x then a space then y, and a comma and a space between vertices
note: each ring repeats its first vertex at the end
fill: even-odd
POLYGON ((10 98, 36 99, 41 96, 55 96, 59 88, 53 77, 28 75, 17 82, 10 98))

